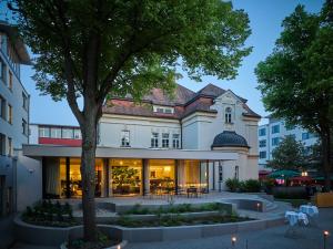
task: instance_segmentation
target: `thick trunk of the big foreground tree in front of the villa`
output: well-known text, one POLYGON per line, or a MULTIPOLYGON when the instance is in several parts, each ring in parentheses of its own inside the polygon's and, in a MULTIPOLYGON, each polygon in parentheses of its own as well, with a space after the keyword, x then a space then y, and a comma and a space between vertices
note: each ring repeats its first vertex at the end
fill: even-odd
POLYGON ((84 112, 83 124, 81 124, 83 235, 84 235, 84 240, 87 241, 97 240, 95 204, 94 204, 97 120, 98 120, 97 112, 94 110, 87 108, 84 112))

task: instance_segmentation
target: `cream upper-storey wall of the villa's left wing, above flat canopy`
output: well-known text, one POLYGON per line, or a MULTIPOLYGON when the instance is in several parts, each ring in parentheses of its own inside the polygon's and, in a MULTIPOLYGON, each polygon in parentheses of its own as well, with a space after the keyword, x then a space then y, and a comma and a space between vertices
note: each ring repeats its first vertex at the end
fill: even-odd
MULTIPOLYGON (((159 147, 162 146, 162 133, 181 134, 180 123, 175 120, 103 115, 99 123, 99 145, 121 147, 121 132, 130 131, 130 147, 150 148, 151 134, 159 133, 159 147)), ((169 145, 172 146, 170 139, 169 145)))

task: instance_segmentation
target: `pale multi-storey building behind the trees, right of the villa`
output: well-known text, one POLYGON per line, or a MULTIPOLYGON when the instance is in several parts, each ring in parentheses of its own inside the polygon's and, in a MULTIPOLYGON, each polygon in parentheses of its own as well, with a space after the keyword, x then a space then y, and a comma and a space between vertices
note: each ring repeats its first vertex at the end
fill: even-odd
POLYGON ((300 126, 289 126, 283 120, 268 118, 269 123, 260 125, 258 128, 260 170, 269 169, 266 165, 272 159, 272 152, 285 136, 293 136, 296 141, 302 142, 307 151, 317 143, 315 134, 300 126))

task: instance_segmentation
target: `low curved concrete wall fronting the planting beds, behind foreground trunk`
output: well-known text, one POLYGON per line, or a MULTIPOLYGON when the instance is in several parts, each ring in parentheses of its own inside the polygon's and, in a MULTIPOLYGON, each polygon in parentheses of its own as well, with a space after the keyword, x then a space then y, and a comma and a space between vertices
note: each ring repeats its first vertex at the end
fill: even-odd
MULTIPOLYGON (((180 227, 143 227, 128 228, 111 225, 98 225, 99 229, 108 234, 110 238, 129 242, 170 241, 182 239, 198 239, 221 235, 230 235, 241 231, 253 231, 281 226, 284 218, 265 220, 250 220, 232 224, 195 225, 180 227)), ((59 246, 68 238, 80 238, 83 235, 82 226, 70 228, 40 227, 14 220, 16 236, 19 241, 44 246, 59 246)))

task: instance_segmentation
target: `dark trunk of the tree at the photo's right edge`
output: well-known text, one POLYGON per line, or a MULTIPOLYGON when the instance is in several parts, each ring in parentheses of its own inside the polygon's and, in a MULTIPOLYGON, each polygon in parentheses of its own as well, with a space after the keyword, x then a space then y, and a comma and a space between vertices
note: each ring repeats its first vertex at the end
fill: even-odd
POLYGON ((322 136, 323 149, 323 169, 324 169, 324 186, 325 191, 331 190, 331 141, 330 132, 322 136))

